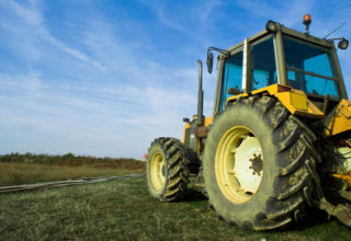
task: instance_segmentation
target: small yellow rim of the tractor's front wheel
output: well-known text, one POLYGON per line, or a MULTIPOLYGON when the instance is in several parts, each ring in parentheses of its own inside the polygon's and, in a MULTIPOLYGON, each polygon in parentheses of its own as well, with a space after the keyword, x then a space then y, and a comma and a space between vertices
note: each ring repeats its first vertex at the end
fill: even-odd
POLYGON ((166 161, 161 152, 157 151, 151 158, 151 182, 156 190, 161 190, 166 182, 166 161))

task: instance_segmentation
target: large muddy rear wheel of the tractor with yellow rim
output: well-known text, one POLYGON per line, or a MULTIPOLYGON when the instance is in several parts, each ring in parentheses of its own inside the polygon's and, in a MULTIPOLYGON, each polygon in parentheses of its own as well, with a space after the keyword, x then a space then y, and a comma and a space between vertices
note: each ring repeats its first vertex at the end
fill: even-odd
POLYGON ((314 134, 269 96, 239 99, 214 122, 204 150, 210 207, 253 230, 286 226, 312 203, 314 134))

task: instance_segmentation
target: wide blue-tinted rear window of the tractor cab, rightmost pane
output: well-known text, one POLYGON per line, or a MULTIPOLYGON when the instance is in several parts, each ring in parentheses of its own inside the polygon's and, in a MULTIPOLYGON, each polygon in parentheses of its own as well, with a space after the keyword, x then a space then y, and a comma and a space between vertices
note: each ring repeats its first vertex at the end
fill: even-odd
POLYGON ((339 97, 336 79, 327 49, 283 37, 286 76, 290 85, 314 96, 339 97))

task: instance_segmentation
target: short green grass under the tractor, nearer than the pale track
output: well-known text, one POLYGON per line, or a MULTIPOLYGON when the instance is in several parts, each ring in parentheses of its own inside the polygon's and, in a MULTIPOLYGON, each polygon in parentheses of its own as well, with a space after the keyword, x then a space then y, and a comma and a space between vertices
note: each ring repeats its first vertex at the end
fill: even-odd
POLYGON ((194 190, 184 202, 159 203, 147 193, 144 179, 133 179, 2 194, 0 239, 350 240, 351 230, 337 220, 312 215, 305 225, 286 230, 242 230, 217 220, 194 190))

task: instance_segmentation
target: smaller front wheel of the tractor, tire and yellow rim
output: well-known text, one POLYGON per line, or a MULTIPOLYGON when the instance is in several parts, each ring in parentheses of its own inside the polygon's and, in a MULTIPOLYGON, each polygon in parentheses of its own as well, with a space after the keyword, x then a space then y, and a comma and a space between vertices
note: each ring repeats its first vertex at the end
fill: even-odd
POLYGON ((150 195, 161 202, 179 199, 189 183, 184 146, 174 138, 155 139, 148 150, 146 181, 150 195))

